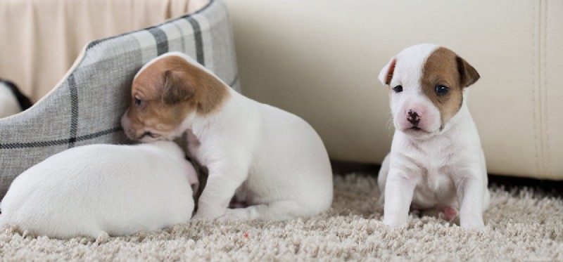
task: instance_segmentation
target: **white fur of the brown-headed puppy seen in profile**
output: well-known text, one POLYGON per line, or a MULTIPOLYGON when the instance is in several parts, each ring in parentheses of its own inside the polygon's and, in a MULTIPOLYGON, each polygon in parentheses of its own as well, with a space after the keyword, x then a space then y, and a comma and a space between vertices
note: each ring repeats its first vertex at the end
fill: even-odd
MULTIPOLYGON (((167 55, 198 65, 182 53, 167 55)), ((283 221, 329 209, 332 171, 315 130, 294 114, 225 86, 229 97, 219 110, 189 114, 172 131, 188 133, 191 155, 209 171, 194 218, 283 221), (228 209, 233 196, 249 207, 228 209)))

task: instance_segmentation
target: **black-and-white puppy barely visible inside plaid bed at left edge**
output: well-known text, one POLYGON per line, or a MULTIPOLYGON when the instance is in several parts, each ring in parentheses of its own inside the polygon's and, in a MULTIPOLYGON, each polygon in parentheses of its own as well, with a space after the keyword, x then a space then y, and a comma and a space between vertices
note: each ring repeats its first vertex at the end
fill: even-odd
POLYGON ((17 114, 31 107, 33 103, 18 86, 11 81, 0 79, 0 118, 17 114))

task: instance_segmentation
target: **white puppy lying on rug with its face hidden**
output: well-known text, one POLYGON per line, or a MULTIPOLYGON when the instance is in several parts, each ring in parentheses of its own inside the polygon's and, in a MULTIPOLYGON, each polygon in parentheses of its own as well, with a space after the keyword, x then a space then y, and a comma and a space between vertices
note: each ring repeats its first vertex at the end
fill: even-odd
POLYGON ((194 167, 173 142, 84 145, 15 178, 0 225, 56 238, 131 235, 189 221, 194 167))

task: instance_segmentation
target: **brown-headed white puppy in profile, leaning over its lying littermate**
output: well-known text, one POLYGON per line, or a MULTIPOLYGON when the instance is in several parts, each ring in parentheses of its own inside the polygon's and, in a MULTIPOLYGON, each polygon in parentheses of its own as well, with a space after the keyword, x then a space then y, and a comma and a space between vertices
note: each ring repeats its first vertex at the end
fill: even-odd
POLYGON ((147 63, 131 94, 122 117, 129 138, 186 132, 191 155, 207 167, 195 218, 283 221, 330 207, 327 150, 296 115, 242 96, 183 53, 147 63), (227 209, 233 197, 247 207, 227 209))

